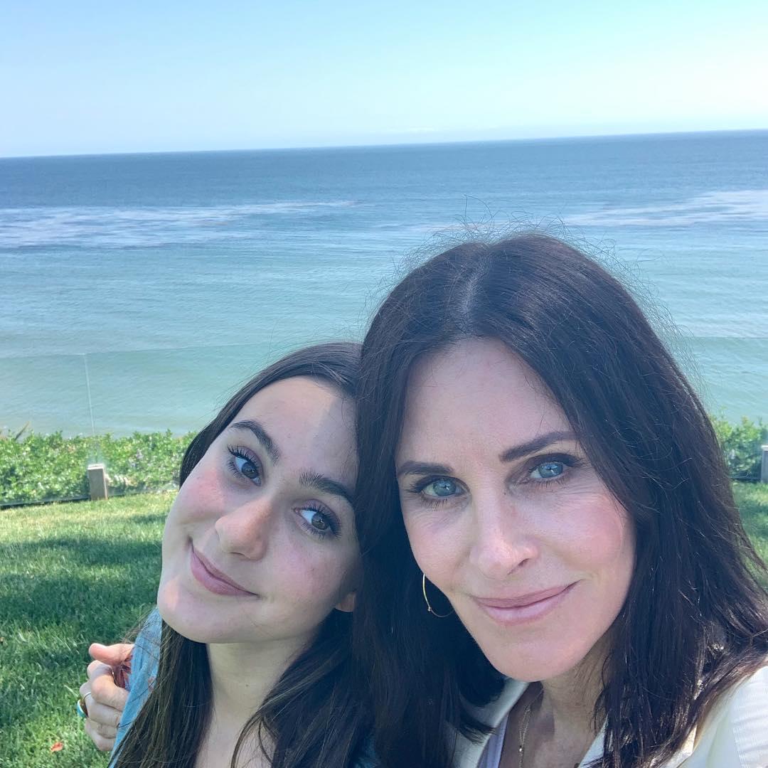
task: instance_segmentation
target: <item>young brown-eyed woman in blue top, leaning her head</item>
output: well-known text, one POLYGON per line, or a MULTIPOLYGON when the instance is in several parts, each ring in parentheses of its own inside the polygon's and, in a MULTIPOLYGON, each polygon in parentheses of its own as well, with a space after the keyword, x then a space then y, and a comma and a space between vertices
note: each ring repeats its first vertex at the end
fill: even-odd
POLYGON ((287 356, 187 449, 115 768, 365 764, 349 617, 358 358, 353 344, 287 356))

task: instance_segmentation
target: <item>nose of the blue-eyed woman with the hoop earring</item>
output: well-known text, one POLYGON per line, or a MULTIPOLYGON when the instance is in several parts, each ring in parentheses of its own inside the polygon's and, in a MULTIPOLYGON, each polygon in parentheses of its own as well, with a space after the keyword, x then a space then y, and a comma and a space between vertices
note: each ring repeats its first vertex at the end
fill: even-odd
POLYGON ((537 557, 535 531, 507 494, 499 492, 475 499, 469 559, 484 578, 499 581, 537 557))

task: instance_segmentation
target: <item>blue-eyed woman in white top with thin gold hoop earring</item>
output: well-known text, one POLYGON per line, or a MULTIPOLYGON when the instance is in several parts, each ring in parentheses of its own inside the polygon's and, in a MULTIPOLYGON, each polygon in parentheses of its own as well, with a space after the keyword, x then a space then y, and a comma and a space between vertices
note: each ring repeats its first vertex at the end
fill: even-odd
POLYGON ((372 322, 358 424, 383 764, 768 765, 765 568, 605 270, 541 235, 441 253, 372 322))

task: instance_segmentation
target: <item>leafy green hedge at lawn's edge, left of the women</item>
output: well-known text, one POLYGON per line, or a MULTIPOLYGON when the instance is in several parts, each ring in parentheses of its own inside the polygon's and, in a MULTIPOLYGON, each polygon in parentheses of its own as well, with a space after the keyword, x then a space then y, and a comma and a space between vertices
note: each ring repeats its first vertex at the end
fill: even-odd
POLYGON ((88 496, 88 464, 106 466, 110 492, 161 490, 176 485, 184 451, 194 433, 134 432, 65 438, 32 433, 0 439, 0 504, 45 502, 88 496))

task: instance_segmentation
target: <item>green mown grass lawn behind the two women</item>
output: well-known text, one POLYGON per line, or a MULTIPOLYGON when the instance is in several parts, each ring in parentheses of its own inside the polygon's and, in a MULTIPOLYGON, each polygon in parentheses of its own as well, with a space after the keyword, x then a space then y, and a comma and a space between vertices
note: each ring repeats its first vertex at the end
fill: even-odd
MULTIPOLYGON (((736 495, 768 558, 768 485, 736 495)), ((107 765, 74 713, 87 648, 120 640, 153 604, 172 499, 0 510, 0 768, 107 765)))

